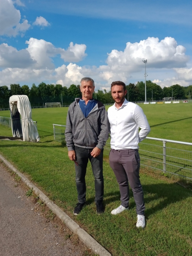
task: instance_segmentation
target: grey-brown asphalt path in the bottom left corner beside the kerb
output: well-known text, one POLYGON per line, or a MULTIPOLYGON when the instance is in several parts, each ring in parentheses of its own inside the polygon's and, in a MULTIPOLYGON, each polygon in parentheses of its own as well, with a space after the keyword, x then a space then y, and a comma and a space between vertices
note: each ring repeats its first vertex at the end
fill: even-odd
POLYGON ((25 194, 26 187, 0 162, 0 256, 85 255, 81 242, 67 239, 65 225, 48 221, 25 194))

